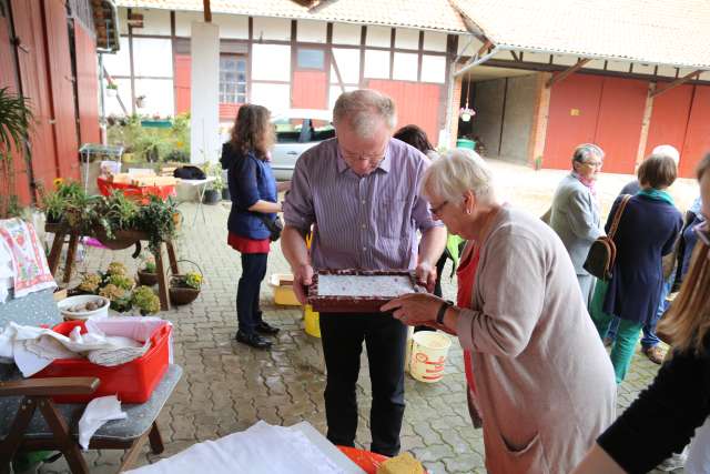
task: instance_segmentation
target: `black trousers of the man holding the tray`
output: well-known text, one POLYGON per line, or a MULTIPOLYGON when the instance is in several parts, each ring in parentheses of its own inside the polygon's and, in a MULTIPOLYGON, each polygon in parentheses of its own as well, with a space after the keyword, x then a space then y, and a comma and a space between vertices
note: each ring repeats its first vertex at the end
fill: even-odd
POLYGON ((321 337, 327 369, 325 416, 328 440, 343 446, 355 445, 355 386, 365 341, 373 393, 371 450, 387 456, 396 455, 404 416, 406 326, 384 313, 321 313, 321 337))

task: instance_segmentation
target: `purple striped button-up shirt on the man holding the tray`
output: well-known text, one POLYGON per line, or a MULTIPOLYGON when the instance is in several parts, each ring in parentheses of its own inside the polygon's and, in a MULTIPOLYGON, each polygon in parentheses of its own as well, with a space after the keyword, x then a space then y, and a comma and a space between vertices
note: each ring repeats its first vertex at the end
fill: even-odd
POLYGON ((358 177, 336 139, 304 152, 284 203, 286 224, 314 225, 314 269, 412 270, 417 263, 416 231, 442 225, 418 194, 429 160, 392 139, 371 174, 358 177))

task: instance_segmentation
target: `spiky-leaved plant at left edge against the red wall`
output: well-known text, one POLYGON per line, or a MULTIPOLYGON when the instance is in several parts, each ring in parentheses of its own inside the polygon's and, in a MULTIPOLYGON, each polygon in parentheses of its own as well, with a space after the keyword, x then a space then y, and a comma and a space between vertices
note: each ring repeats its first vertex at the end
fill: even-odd
POLYGON ((9 88, 0 89, 0 218, 8 215, 14 188, 14 165, 12 153, 19 153, 29 163, 28 133, 33 123, 30 102, 9 88))

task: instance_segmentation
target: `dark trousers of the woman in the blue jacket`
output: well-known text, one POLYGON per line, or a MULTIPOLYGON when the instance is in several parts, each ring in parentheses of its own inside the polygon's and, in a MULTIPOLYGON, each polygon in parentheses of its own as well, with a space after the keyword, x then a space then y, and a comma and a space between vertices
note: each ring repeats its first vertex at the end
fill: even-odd
POLYGON ((236 319, 240 331, 246 334, 262 321, 258 292, 266 276, 267 253, 242 253, 242 278, 236 288, 236 319))

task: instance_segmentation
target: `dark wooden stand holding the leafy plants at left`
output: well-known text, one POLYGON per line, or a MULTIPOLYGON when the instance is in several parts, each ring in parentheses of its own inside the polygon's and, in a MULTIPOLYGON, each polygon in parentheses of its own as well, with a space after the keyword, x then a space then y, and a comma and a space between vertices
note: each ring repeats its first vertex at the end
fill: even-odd
MULTIPOLYGON (((52 249, 50 250, 49 258, 47 259, 49 269, 53 275, 57 273, 57 269, 59 268, 59 259, 62 253, 62 246, 64 246, 67 235, 69 235, 69 248, 67 250, 67 263, 64 265, 63 279, 64 283, 69 283, 71 280, 71 273, 74 268, 74 258, 77 256, 77 248, 79 246, 79 239, 81 238, 81 234, 78 231, 65 225, 52 223, 45 224, 44 230, 54 234, 54 242, 52 243, 52 249)), ((120 231, 119 236, 126 239, 126 241, 131 241, 129 245, 120 246, 120 249, 131 246, 139 241, 150 240, 150 235, 141 231, 120 231)), ((165 250, 168 251, 168 260, 170 263, 171 273, 178 274, 180 273, 180 270, 178 269, 178 259, 175 256, 175 248, 173 246, 173 242, 161 242, 158 252, 153 252, 153 255, 155 256, 155 271, 158 272, 158 296, 160 297, 160 309, 161 311, 168 311, 170 310, 170 297, 168 294, 168 279, 165 276, 165 264, 163 260, 163 244, 165 245, 165 250)))

